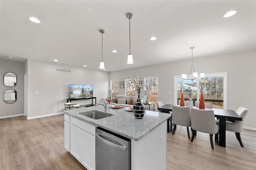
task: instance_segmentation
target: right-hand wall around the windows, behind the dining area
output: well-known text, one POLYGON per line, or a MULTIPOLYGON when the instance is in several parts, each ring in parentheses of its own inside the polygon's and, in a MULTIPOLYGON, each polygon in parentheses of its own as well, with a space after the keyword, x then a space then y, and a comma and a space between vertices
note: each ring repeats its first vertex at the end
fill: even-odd
MULTIPOLYGON (((256 130, 256 51, 194 59, 196 72, 228 73, 228 109, 237 110, 243 106, 249 109, 244 127, 256 130)), ((159 77, 158 100, 164 104, 174 103, 174 76, 189 73, 191 60, 166 63, 131 70, 110 72, 110 80, 124 82, 123 76, 159 77), (171 93, 171 94, 170 94, 171 93)), ((120 89, 124 95, 124 90, 120 89)))

